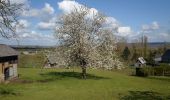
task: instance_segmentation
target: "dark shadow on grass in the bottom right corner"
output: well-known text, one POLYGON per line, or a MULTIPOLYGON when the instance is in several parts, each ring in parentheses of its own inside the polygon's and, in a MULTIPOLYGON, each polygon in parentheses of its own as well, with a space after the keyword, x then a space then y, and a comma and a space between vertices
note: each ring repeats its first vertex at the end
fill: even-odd
POLYGON ((120 95, 120 100, 170 100, 170 96, 152 91, 129 91, 128 95, 120 95))

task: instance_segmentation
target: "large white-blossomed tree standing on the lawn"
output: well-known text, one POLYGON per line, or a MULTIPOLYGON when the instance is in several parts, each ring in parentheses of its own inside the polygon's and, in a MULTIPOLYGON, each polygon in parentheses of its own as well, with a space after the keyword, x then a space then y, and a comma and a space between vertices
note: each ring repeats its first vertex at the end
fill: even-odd
POLYGON ((57 20, 56 37, 60 41, 57 56, 65 65, 74 64, 82 68, 82 78, 86 78, 86 68, 103 67, 113 69, 119 66, 115 54, 113 30, 105 28, 101 13, 89 15, 90 9, 78 7, 57 20))

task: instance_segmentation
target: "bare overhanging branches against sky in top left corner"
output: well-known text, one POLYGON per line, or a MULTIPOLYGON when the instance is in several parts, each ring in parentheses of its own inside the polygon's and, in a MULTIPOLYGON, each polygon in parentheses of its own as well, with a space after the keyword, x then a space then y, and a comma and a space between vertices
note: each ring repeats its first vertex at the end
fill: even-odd
POLYGON ((22 6, 23 4, 11 3, 10 0, 0 0, 0 34, 2 37, 10 38, 15 35, 15 24, 22 6))

